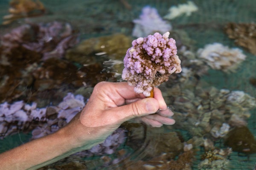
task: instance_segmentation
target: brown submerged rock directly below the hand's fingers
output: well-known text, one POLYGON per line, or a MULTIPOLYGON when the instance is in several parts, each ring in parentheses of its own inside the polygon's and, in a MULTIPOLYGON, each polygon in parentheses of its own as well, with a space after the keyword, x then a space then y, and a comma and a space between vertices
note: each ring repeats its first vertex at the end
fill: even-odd
POLYGON ((137 151, 143 150, 144 158, 160 156, 162 153, 170 153, 174 158, 183 151, 183 141, 178 132, 164 133, 161 129, 138 123, 125 123, 124 127, 128 130, 127 145, 137 151))

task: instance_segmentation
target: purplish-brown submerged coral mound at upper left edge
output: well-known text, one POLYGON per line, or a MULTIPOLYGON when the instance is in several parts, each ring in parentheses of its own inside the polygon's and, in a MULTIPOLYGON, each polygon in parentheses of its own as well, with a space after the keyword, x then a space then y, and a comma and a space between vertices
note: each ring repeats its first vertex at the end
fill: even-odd
POLYGON ((9 58, 14 51, 19 50, 42 54, 43 60, 50 57, 61 58, 67 48, 78 43, 78 34, 74 33, 75 31, 69 23, 54 21, 52 23, 25 24, 3 35, 2 55, 9 58))

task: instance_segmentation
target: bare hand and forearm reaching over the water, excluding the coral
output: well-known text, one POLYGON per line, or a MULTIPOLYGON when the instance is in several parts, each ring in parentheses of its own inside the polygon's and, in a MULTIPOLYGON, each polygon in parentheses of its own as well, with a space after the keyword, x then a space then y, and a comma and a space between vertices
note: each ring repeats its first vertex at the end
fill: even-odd
POLYGON ((85 108, 55 133, 0 154, 5 170, 35 170, 103 142, 123 122, 141 117, 149 125, 172 125, 161 91, 154 98, 137 94, 127 82, 98 83, 85 108), (161 110, 159 114, 152 114, 161 110), (25 156, 24 156, 25 155, 25 156))

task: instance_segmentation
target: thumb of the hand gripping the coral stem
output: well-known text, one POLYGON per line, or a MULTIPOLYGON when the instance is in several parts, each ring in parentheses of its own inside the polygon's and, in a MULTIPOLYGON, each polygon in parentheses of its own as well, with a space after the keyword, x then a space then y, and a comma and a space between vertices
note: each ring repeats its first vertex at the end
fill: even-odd
POLYGON ((135 117, 156 113, 159 109, 159 104, 157 99, 149 97, 113 109, 120 121, 125 122, 135 117))

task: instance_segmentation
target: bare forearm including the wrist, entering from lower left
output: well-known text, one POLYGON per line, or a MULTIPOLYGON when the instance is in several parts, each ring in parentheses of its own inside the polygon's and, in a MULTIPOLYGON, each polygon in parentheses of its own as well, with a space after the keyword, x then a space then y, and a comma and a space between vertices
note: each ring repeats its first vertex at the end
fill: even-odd
POLYGON ((73 120, 67 127, 51 135, 0 154, 0 170, 35 170, 101 142, 93 141, 90 129, 74 121, 79 120, 73 120), (85 131, 88 132, 88 140, 77 140, 76 136, 85 131))

